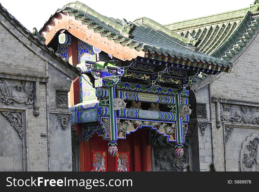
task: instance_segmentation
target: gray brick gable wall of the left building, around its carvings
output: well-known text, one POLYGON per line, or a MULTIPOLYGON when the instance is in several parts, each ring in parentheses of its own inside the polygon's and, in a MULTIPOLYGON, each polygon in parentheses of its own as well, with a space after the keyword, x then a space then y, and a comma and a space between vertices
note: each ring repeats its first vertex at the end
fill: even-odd
MULTIPOLYGON (((0 78, 4 78, 11 85, 21 85, 21 80, 40 82, 39 97, 35 99, 39 99, 39 116, 35 117, 33 114, 33 107, 37 108, 37 105, 19 102, 5 105, 0 102, 0 111, 11 109, 24 117, 23 133, 26 133, 22 142, 26 145, 23 148, 23 163, 27 164, 27 167, 24 166, 23 170, 72 171, 70 122, 66 129, 63 129, 57 117, 57 113, 71 112, 57 111, 55 92, 56 89, 69 90, 71 78, 80 74, 80 71, 57 57, 14 19, 4 14, 6 12, 0 12, 0 78)), ((37 93, 34 97, 36 95, 37 93)), ((0 141, 0 147, 2 143, 0 141)))

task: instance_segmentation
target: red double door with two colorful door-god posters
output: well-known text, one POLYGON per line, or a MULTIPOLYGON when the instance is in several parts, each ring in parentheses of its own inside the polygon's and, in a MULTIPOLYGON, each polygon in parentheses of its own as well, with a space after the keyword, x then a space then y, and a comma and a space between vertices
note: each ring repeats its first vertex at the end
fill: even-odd
POLYGON ((80 142, 80 171, 152 171, 148 129, 139 129, 118 139, 118 153, 108 153, 108 141, 94 134, 80 142))

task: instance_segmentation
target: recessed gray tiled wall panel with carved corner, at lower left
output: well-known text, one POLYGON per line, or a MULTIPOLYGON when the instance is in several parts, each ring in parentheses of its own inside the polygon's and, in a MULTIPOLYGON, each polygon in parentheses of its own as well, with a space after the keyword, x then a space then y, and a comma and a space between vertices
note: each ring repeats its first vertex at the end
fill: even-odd
POLYGON ((0 110, 0 171, 26 171, 23 113, 0 110))

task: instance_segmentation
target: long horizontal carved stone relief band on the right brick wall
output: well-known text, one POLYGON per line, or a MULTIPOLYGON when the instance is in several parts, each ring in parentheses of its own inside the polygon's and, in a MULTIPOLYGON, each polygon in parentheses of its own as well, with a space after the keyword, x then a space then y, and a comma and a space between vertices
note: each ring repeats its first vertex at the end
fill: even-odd
POLYGON ((220 103, 220 120, 244 124, 259 124, 259 107, 220 103))

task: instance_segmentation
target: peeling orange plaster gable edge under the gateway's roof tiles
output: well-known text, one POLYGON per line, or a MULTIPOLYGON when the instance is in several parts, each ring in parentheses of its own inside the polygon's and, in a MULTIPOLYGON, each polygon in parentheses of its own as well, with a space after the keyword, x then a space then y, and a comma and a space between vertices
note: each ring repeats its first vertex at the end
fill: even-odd
POLYGON ((93 29, 87 29, 87 25, 82 25, 80 20, 75 20, 74 16, 69 16, 67 13, 56 13, 44 25, 40 33, 46 39, 45 43, 48 45, 55 34, 61 29, 66 29, 80 40, 121 60, 132 60, 137 56, 145 56, 144 51, 137 51, 134 48, 130 49, 128 46, 122 46, 120 43, 114 43, 113 40, 101 37, 99 33, 94 33, 93 29))

